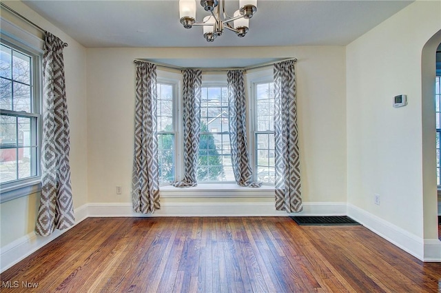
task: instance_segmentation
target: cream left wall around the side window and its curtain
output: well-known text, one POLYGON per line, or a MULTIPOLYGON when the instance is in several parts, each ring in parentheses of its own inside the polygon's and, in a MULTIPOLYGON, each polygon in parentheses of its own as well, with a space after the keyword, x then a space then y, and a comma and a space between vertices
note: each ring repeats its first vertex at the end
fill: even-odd
MULTIPOLYGON (((86 109, 86 51, 83 46, 67 34, 39 16, 21 1, 2 1, 13 10, 37 25, 52 32, 69 44, 63 51, 65 61, 66 92, 70 115, 70 164, 74 208, 88 202, 88 152, 87 152, 87 109, 86 109)), ((2 17, 6 12, 2 10, 2 17)), ((9 18, 14 19, 14 18, 9 18)), ((23 26, 15 19, 18 26, 23 26)), ((30 28, 34 33, 35 30, 30 28)), ((30 194, 0 205, 1 235, 0 247, 32 234, 39 205, 39 194, 30 194)))

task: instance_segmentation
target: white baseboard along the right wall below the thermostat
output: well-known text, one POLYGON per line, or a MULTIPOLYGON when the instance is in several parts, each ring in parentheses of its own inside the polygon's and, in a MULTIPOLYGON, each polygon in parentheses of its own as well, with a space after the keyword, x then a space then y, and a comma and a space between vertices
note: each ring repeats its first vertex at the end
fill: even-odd
POLYGON ((422 239, 350 203, 347 205, 347 214, 420 261, 441 261, 441 241, 438 239, 422 239))

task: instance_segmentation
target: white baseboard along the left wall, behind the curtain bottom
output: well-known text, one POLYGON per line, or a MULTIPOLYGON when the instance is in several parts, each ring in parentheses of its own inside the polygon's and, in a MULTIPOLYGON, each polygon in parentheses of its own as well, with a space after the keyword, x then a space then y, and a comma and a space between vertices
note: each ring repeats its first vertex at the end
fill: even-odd
MULTIPOLYGON (((81 207, 74 210, 76 224, 80 223, 88 217, 88 205, 81 205, 81 207)), ((72 228, 72 227, 71 227, 72 228)), ((69 228, 70 229, 70 228, 69 228)), ((55 230, 50 236, 43 237, 31 232, 8 245, 1 247, 0 250, 0 272, 8 270, 9 267, 25 259, 25 257, 36 252, 50 241, 57 239, 66 230, 55 230)))

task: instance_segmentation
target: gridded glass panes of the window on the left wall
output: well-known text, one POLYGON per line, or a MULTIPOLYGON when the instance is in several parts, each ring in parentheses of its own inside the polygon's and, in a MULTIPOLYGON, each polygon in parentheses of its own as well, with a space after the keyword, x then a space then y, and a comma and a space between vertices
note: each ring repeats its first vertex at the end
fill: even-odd
POLYGON ((8 43, 0 50, 0 183, 12 188, 39 176, 37 56, 8 43))

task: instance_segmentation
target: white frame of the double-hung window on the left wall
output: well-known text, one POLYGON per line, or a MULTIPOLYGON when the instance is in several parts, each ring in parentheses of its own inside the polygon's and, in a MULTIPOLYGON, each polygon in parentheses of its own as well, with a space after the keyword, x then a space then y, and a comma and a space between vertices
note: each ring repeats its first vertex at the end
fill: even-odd
MULTIPOLYGON (((1 43, 10 46, 19 52, 28 54, 32 57, 32 113, 26 114, 37 119, 37 175, 25 179, 0 183, 0 203, 27 196, 41 190, 41 133, 43 123, 41 119, 42 107, 42 56, 43 41, 39 37, 30 34, 26 30, 15 26, 13 23, 1 18, 1 43)), ((3 111, 2 111, 3 112, 3 111)), ((5 111, 6 113, 7 111, 5 111)))

